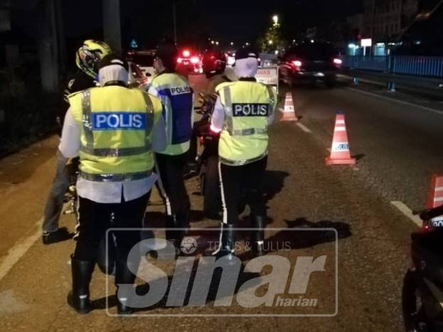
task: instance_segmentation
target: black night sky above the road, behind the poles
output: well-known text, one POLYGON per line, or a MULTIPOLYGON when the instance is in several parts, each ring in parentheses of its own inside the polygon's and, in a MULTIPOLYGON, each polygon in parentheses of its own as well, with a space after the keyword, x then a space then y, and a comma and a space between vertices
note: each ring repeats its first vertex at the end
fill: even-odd
MULTIPOLYGON (((31 4, 38 0, 19 0, 31 4)), ((175 0, 179 43, 211 37, 222 45, 253 43, 280 16, 286 38, 297 38, 307 27, 339 20, 362 10, 363 0, 272 0, 207 1, 175 0)), ((26 7, 26 6, 24 6, 26 7)), ((87 38, 102 38, 102 0, 62 1, 68 44, 87 38)), ((35 34, 33 14, 19 11, 16 26, 35 34)), ((142 48, 153 48, 160 38, 173 36, 173 0, 121 0, 124 48, 136 38, 142 48)))

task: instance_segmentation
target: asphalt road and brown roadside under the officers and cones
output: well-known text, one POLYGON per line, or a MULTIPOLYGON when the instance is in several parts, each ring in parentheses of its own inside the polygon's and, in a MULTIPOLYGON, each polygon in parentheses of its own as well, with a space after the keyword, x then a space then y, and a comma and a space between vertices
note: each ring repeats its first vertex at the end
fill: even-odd
MULTIPOLYGON (((138 312, 190 316, 109 317, 104 309, 106 278, 97 270, 92 299, 99 309, 87 316, 75 314, 65 303, 74 243, 43 246, 38 237, 55 171, 57 138, 49 138, 0 160, 0 331, 402 331, 400 288, 410 262, 410 233, 417 226, 391 201, 410 209, 424 207, 432 173, 443 172, 443 112, 438 105, 431 109, 425 101, 365 86, 295 87, 292 97, 302 126, 278 120, 272 126, 265 179, 268 228, 273 228, 267 232, 268 243, 290 240, 292 246, 269 255, 291 262, 327 258, 324 272, 313 273, 307 284, 305 297, 318 299, 317 307, 248 309, 238 301, 219 307, 208 301, 207 306, 160 305, 138 312), (355 167, 324 165, 337 111, 346 114, 351 153, 358 158, 355 167), (292 231, 276 229, 284 227, 292 231), (338 256, 334 232, 322 234, 319 228, 337 230, 338 256), (279 314, 286 316, 272 316, 279 314), (288 316, 293 314, 328 316, 288 316)), ((195 194, 195 179, 187 181, 187 189, 192 226, 217 226, 198 212, 202 198, 195 194)), ((154 193, 148 208, 151 226, 162 226, 162 211, 154 193)), ((63 226, 73 230, 74 224, 72 216, 62 216, 63 226)), ((241 257, 244 264, 250 260, 241 257)), ((173 262, 162 264, 172 271, 173 262)), ((258 289, 258 296, 265 290, 258 289)))

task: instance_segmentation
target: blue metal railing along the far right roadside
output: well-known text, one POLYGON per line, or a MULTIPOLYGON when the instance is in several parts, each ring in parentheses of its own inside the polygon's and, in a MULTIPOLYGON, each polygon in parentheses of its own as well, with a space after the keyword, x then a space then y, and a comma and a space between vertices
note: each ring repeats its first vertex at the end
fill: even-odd
POLYGON ((341 57, 341 60, 343 60, 344 67, 351 70, 373 70, 420 77, 443 77, 443 57, 345 55, 341 57))

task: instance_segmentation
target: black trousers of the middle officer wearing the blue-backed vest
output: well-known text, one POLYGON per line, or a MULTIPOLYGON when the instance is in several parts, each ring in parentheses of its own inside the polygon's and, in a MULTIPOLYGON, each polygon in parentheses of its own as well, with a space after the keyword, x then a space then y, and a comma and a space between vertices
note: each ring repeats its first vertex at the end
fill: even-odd
MULTIPOLYGON (((168 216, 186 218, 190 210, 183 170, 187 162, 187 153, 182 155, 155 155, 157 172, 160 176, 160 194, 166 205, 168 216)), ((180 227, 185 226, 181 225, 180 227)))

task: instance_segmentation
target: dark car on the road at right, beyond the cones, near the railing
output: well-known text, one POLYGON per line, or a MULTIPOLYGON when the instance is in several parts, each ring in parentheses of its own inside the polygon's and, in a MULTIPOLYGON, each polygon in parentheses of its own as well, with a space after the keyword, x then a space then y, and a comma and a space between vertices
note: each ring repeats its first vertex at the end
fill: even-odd
POLYGON ((302 82, 323 82, 327 87, 337 84, 341 67, 337 50, 329 43, 301 43, 280 57, 280 81, 292 86, 302 82))

